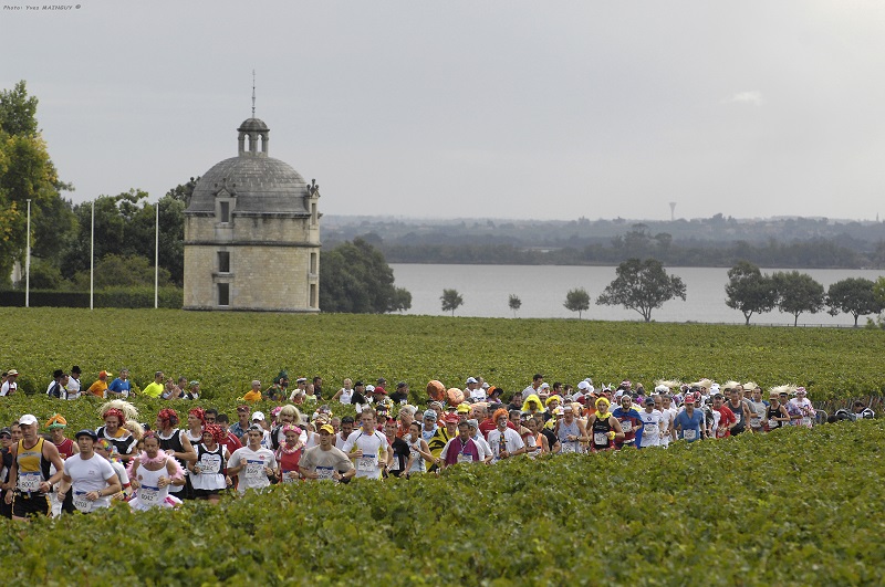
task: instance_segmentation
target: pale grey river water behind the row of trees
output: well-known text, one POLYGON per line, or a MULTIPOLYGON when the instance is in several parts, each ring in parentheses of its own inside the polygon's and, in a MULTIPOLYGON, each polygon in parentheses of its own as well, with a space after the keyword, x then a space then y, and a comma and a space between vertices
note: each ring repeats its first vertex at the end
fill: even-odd
MULTIPOLYGON (((584 287, 591 296, 585 319, 641 321, 642 316, 621 306, 596 305, 596 297, 615 279, 615 268, 558 266, 558 265, 430 265, 392 263, 398 287, 412 293, 412 310, 406 314, 442 315, 439 297, 444 289, 455 289, 464 297, 456 316, 513 317, 508 305, 510 294, 522 301, 517 316, 524 318, 576 318, 575 312, 565 310, 569 290, 584 287)), ((771 274, 780 270, 763 270, 771 274)), ((883 271, 851 269, 800 270, 820 282, 824 290, 846 277, 866 277, 875 281, 883 271)), ((656 322, 705 322, 743 324, 743 314, 726 305, 725 287, 728 269, 725 268, 667 268, 667 273, 678 275, 686 285, 686 301, 669 301, 652 312, 656 322)), ((767 314, 753 315, 751 324, 792 324, 791 314, 777 308, 767 314)), ((844 325, 854 324, 848 314, 831 316, 826 311, 801 314, 799 324, 844 325)), ((865 324, 862 316, 858 324, 865 324)))

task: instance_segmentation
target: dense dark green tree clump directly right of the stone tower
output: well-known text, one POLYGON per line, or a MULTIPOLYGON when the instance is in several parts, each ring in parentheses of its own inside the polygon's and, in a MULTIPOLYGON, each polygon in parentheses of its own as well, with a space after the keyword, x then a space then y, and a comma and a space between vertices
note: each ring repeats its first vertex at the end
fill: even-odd
POLYGON ((412 307, 412 294, 394 286, 394 272, 381 251, 354 239, 323 253, 320 307, 325 312, 384 314, 412 307))

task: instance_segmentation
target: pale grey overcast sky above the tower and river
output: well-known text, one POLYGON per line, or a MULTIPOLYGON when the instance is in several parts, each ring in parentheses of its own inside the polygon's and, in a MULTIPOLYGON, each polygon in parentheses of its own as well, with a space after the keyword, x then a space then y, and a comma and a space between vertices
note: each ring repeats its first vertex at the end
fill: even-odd
POLYGON ((254 69, 330 214, 885 212, 881 1, 4 1, 74 201, 235 156, 254 69))

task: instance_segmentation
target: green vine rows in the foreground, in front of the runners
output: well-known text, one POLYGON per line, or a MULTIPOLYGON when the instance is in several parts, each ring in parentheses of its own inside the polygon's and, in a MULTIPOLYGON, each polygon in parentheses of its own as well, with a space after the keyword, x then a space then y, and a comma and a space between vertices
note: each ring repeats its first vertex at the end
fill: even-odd
POLYGON ((883 442, 844 422, 0 520, 0 565, 10 585, 881 585, 883 442))

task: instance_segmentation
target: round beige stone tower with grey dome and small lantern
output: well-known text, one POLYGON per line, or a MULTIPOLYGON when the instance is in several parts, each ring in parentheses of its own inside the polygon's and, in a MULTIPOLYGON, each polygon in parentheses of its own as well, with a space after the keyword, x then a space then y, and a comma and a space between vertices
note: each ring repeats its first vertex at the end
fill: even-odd
POLYGON ((238 155, 209 169, 185 211, 185 310, 317 312, 319 186, 268 157, 249 118, 238 155))

